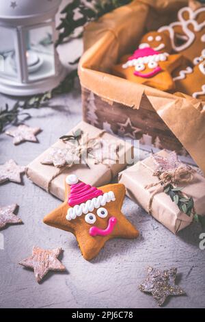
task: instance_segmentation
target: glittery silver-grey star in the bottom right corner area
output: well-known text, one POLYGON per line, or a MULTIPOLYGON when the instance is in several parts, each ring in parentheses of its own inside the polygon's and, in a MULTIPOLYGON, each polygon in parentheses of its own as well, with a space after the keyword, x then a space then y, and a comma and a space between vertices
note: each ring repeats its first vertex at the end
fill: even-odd
POLYGON ((169 295, 185 295, 186 293, 180 286, 175 284, 177 269, 153 269, 148 267, 147 278, 139 285, 139 290, 152 293, 157 304, 162 306, 169 295))

